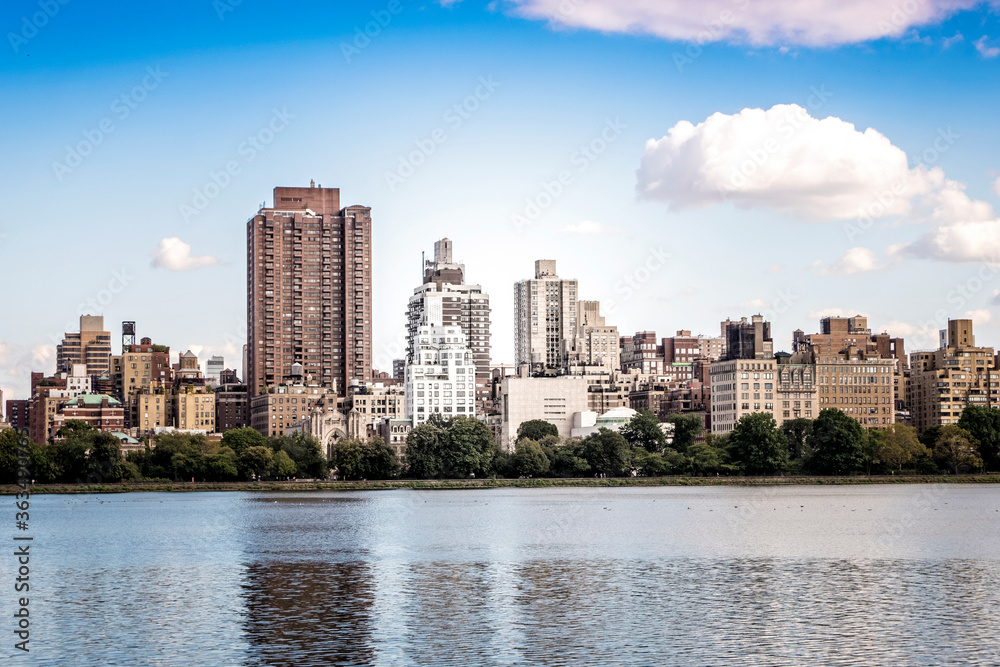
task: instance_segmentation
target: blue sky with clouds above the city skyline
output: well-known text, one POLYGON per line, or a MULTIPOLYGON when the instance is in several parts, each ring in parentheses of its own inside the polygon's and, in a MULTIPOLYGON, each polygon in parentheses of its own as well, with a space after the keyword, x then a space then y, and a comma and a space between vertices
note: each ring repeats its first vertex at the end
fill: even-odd
POLYGON ((5 398, 81 314, 241 366, 246 221, 311 179, 372 208, 381 370, 444 236, 497 363, 541 258, 623 334, 1000 346, 1000 3, 10 0, 0 31, 5 398))

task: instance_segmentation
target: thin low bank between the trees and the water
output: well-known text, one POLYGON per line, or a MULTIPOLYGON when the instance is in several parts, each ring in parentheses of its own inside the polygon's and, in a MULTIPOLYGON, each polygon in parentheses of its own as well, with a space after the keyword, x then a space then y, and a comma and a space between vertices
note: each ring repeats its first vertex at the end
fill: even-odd
MULTIPOLYGON (((295 482, 123 482, 119 484, 35 484, 34 495, 88 493, 198 493, 207 491, 390 491, 469 490, 545 487, 632 486, 868 486, 872 484, 1000 484, 1000 474, 990 475, 898 475, 857 477, 612 477, 612 478, 537 478, 537 479, 442 479, 442 480, 372 480, 372 481, 295 481, 295 482)), ((15 484, 0 486, 0 494, 14 495, 15 484)))

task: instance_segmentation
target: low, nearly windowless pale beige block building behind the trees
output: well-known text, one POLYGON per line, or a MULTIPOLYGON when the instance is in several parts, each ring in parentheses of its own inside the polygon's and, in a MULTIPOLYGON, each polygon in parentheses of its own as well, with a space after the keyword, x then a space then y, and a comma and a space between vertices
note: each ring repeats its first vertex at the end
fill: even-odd
MULTIPOLYGON (((525 367, 526 369, 527 367, 525 367)), ((559 377, 506 377, 500 390, 501 449, 513 451, 517 429, 532 419, 543 419, 559 429, 559 436, 570 437, 573 415, 585 412, 587 379, 559 377)))

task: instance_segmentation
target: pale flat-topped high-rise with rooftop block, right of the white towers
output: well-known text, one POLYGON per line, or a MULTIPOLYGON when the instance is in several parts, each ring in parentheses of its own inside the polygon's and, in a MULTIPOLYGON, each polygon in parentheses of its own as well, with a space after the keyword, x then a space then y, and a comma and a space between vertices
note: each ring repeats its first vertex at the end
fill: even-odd
POLYGON ((561 368, 577 330, 577 282, 556 275, 554 259, 535 262, 535 277, 514 285, 515 363, 561 368))

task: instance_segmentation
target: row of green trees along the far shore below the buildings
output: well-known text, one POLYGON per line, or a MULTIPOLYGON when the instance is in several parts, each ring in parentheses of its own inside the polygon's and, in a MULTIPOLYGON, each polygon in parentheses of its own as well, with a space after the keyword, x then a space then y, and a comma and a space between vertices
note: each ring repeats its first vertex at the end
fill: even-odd
MULTIPOLYGON (((160 480, 228 482, 264 479, 447 479, 469 477, 623 477, 633 475, 889 475, 1000 471, 1000 410, 970 406, 957 424, 919 437, 903 424, 865 429, 839 410, 778 427, 767 413, 744 415, 724 436, 704 435, 701 417, 669 415, 668 435, 657 416, 639 411, 618 431, 561 438, 555 425, 521 424, 514 451, 501 450, 490 428, 470 417, 438 415, 413 428, 400 461, 378 436, 345 438, 327 460, 315 438, 265 438, 251 428, 221 441, 162 434, 143 451, 121 453, 114 436, 67 422, 56 444, 31 445, 39 483, 160 480)), ((0 482, 15 481, 18 434, 0 432, 0 482)))

